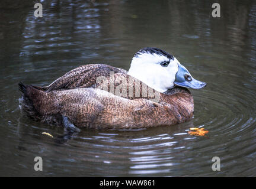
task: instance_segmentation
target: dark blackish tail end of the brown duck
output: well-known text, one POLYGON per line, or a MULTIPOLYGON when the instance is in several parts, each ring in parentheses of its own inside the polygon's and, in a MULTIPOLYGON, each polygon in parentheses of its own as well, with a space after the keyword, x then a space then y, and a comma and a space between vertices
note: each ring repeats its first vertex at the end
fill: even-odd
POLYGON ((20 100, 21 110, 24 112, 28 118, 33 120, 41 120, 41 114, 39 110, 36 108, 35 102, 38 102, 38 97, 41 96, 43 89, 36 86, 25 85, 22 82, 18 83, 20 91, 23 93, 23 97, 20 100))

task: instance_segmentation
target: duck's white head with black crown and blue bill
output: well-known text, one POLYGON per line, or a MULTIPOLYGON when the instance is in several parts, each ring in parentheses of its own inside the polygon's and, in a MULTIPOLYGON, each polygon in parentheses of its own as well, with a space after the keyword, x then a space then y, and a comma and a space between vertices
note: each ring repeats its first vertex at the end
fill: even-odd
POLYGON ((206 86, 194 79, 174 56, 159 48, 139 50, 132 58, 128 74, 161 93, 175 86, 191 89, 206 86))

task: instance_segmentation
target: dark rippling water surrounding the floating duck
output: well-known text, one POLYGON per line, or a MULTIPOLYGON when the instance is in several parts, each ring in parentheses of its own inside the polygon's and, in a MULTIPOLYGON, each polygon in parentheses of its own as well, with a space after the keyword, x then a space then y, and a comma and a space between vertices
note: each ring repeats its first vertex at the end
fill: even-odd
POLYGON ((36 2, 0 2, 1 176, 256 175, 255 2, 41 1, 37 19, 36 2), (213 2, 220 3, 220 18, 212 17, 213 2), (84 130, 60 144, 63 128, 20 113, 18 82, 46 85, 86 63, 127 70, 142 47, 168 51, 208 83, 191 90, 193 120, 139 131, 84 130), (209 133, 188 135, 191 127, 209 133), (37 156, 41 172, 34 171, 37 156), (212 170, 213 157, 220 171, 212 170))

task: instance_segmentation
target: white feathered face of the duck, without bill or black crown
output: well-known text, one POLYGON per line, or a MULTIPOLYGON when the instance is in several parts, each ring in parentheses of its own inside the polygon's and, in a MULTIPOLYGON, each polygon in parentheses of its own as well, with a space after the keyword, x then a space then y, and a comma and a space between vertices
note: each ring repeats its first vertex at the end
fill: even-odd
POLYGON ((143 51, 132 59, 128 74, 158 92, 174 87, 179 61, 157 53, 143 51), (165 63, 169 63, 168 66, 165 63))

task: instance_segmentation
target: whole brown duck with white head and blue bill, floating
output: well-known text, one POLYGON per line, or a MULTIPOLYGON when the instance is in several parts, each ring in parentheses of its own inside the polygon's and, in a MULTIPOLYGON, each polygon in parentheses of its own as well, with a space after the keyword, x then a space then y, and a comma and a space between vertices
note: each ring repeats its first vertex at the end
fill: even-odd
POLYGON ((171 54, 155 47, 134 54, 128 71, 86 64, 49 86, 19 84, 21 110, 28 118, 79 132, 171 126, 193 118, 194 79, 171 54))

